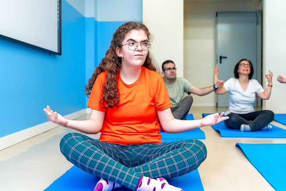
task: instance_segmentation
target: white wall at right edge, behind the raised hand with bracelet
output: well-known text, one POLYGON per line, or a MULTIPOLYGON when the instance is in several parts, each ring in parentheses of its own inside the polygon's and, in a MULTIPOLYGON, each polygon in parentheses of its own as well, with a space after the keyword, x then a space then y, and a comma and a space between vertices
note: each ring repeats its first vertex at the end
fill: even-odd
MULTIPOLYGON (((263 1, 263 76, 273 72, 273 88, 265 109, 274 113, 286 113, 286 84, 279 83, 278 75, 286 77, 286 1, 263 1)), ((263 87, 267 87, 263 78, 263 87)))

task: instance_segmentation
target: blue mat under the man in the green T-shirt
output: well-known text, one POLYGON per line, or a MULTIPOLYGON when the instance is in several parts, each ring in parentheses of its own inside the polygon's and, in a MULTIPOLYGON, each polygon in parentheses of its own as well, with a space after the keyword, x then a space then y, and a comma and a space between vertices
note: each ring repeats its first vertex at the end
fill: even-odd
MULTIPOLYGON (((187 120, 194 120, 193 114, 188 114, 187 120)), ((204 131, 200 128, 192 129, 190 131, 185 131, 182 133, 166 133, 160 132, 162 139, 205 139, 204 131)))

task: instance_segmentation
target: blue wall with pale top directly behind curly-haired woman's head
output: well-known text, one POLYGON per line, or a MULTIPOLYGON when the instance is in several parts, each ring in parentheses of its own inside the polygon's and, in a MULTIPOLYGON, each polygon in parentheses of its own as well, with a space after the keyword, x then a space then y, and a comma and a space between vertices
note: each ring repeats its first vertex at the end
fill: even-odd
MULTIPOLYGON (((94 41, 94 65, 86 58, 86 82, 94 72, 94 68, 98 66, 105 52, 110 46, 112 35, 116 29, 127 21, 138 21, 142 23, 142 0, 97 0, 95 2, 94 23, 92 18, 86 18, 86 29, 92 31, 94 27, 94 36, 86 33, 86 43, 94 41)), ((87 47, 87 52, 92 49, 87 47)), ((88 99, 86 99, 87 103, 88 99)))

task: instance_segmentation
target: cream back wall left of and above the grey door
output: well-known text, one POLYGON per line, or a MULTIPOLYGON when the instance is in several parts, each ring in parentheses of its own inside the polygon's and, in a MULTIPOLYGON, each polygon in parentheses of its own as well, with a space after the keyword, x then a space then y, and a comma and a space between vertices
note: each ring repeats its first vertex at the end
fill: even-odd
MULTIPOLYGON (((212 85, 215 67, 215 24, 218 11, 255 11, 254 1, 240 3, 184 2, 184 77, 203 88, 212 85)), ((212 92, 194 97, 194 106, 215 106, 212 92)))

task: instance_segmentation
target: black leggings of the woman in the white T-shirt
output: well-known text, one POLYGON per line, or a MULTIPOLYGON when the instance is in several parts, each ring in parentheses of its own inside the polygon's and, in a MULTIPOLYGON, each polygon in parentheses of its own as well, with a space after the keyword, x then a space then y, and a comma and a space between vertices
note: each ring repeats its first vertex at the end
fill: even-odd
POLYGON ((240 129, 242 124, 249 125, 251 131, 257 131, 268 125, 274 119, 274 113, 269 110, 253 111, 251 113, 237 114, 230 113, 227 115, 225 125, 231 129, 240 129))

